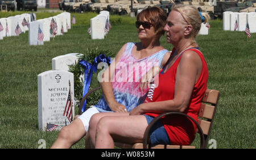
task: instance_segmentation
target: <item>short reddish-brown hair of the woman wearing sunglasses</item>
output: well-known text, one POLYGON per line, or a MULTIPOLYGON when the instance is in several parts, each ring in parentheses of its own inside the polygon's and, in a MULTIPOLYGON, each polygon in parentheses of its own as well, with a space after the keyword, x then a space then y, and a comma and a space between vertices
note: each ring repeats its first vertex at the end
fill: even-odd
POLYGON ((148 7, 137 15, 138 21, 143 19, 150 20, 155 29, 156 35, 162 36, 164 34, 164 25, 166 25, 167 16, 159 7, 148 7))

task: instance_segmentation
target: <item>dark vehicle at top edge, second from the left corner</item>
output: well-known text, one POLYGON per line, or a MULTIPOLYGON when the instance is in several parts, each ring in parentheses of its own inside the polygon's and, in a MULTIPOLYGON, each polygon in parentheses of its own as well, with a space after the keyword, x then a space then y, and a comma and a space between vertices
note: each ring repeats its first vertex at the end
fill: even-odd
POLYGON ((22 9, 23 11, 26 11, 26 10, 37 11, 38 10, 38 3, 36 2, 36 0, 16 0, 16 2, 17 2, 17 10, 18 11, 20 9, 22 9))

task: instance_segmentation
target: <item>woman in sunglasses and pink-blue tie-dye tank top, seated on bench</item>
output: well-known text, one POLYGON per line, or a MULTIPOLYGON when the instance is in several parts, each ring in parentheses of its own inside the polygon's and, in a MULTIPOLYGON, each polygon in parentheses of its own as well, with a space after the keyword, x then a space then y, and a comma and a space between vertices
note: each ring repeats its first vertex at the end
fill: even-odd
POLYGON ((142 77, 152 67, 164 66, 170 57, 170 52, 159 42, 166 18, 159 7, 146 8, 138 14, 136 27, 141 42, 122 46, 110 67, 100 76, 101 100, 63 127, 52 148, 70 148, 79 141, 88 132, 92 115, 104 112, 103 116, 109 114, 108 111, 127 113, 144 102, 147 93, 139 89, 142 77))

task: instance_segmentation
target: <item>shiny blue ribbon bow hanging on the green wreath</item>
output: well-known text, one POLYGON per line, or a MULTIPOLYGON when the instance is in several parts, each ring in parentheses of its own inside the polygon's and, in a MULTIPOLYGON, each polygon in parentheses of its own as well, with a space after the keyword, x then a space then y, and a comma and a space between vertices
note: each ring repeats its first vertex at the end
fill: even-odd
MULTIPOLYGON (((110 60, 110 57, 105 57, 105 54, 101 54, 95 57, 93 60, 93 64, 90 64, 86 60, 80 60, 79 64, 81 64, 84 67, 84 88, 82 91, 82 97, 84 97, 85 94, 88 93, 93 72, 97 73, 97 66, 98 66, 98 63, 100 62, 105 62, 110 64, 111 60, 110 60)), ((86 110, 86 100, 84 101, 84 104, 82 104, 82 112, 84 113, 85 110, 86 110)))

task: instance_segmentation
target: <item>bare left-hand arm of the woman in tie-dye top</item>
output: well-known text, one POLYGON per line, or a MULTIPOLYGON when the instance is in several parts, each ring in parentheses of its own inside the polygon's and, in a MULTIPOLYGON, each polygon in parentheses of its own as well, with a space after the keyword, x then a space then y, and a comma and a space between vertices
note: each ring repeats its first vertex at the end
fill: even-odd
POLYGON ((117 55, 115 56, 113 62, 110 64, 108 69, 102 74, 102 79, 100 82, 103 96, 108 103, 110 109, 114 112, 127 112, 125 111, 126 107, 115 101, 113 88, 111 84, 111 79, 115 79, 115 66, 121 59, 123 53, 125 52, 126 45, 123 45, 122 48, 118 51, 117 55), (105 77, 107 76, 107 77, 105 77))

